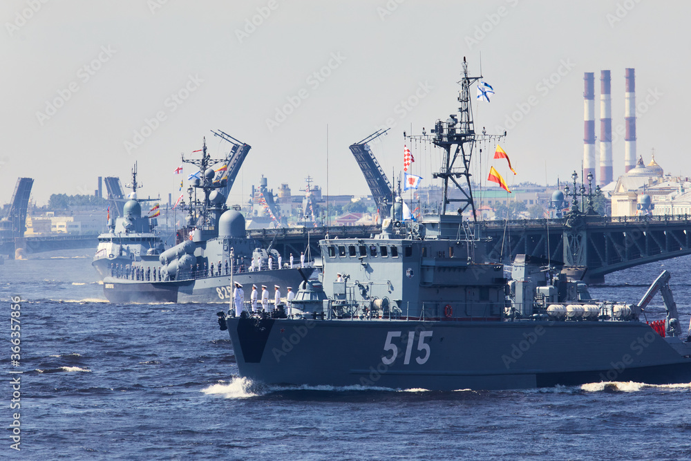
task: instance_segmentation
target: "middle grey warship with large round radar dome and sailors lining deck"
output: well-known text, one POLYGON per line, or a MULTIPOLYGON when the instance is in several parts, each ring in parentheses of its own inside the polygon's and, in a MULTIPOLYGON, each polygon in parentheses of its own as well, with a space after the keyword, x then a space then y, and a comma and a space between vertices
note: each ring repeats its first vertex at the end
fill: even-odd
MULTIPOLYGON (((176 245, 164 250, 153 247, 136 254, 126 263, 108 261, 104 268, 104 294, 113 303, 227 303, 231 280, 242 285, 297 286, 303 280, 299 267, 290 267, 290 255, 263 248, 247 238, 245 218, 230 209, 226 194, 250 147, 223 131, 213 132, 231 142, 233 149, 225 159, 212 159, 206 141, 200 159, 182 162, 198 167, 199 173, 188 189, 186 225, 176 232, 176 245), (224 194, 225 191, 225 194, 224 194), (269 267, 270 263, 270 267, 269 267)), ((146 224, 141 205, 129 200, 124 205, 124 223, 146 224)), ((125 229, 133 232, 135 225, 125 229)), ((307 262, 303 270, 312 273, 307 262)))

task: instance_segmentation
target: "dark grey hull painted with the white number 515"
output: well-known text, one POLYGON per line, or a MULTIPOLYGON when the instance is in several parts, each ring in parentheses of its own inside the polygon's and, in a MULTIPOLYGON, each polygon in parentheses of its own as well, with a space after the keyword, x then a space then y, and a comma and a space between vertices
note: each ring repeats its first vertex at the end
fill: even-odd
POLYGON ((691 382, 691 359, 640 322, 227 319, 227 326, 240 375, 265 384, 453 391, 691 382))

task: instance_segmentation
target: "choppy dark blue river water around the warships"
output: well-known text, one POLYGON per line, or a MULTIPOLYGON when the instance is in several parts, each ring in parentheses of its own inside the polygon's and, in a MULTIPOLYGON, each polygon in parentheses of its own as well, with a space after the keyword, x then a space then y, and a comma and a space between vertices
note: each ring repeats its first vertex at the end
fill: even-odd
MULTIPOLYGON (((666 268, 683 328, 691 258, 607 276, 591 293, 635 302, 666 268)), ((218 305, 106 303, 91 252, 0 266, 0 417, 21 375, 21 451, 61 459, 690 459, 691 384, 532 391, 261 388, 238 379, 218 305), (21 361, 9 362, 10 296, 21 361)), ((648 309, 663 317, 659 295, 648 309)), ((577 354, 578 351, 568 353, 577 354)))

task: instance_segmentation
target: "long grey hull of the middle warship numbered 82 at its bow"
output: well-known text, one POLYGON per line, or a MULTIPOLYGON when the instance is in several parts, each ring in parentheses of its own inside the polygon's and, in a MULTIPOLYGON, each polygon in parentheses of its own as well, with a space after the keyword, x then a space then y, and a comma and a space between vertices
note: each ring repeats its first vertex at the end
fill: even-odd
MULTIPOLYGON (((305 274, 310 270, 305 271, 305 274)), ((261 272, 243 272, 234 274, 233 283, 243 285, 245 298, 249 300, 252 284, 261 289, 267 285, 273 293, 274 285, 296 289, 303 281, 297 269, 263 270, 261 272)), ((103 291, 111 303, 229 303, 232 296, 231 276, 220 275, 202 279, 183 281, 134 281, 106 277, 103 291)))

